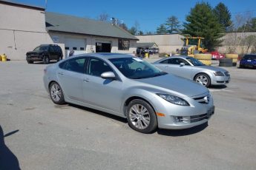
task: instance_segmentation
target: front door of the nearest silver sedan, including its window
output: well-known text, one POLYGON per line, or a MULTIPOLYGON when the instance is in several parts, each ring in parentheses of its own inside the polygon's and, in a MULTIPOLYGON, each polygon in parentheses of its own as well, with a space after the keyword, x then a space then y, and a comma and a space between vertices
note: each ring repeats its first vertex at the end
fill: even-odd
POLYGON ((102 72, 113 72, 113 69, 100 58, 90 58, 87 74, 84 76, 82 89, 85 103, 108 109, 112 112, 121 111, 122 81, 103 79, 102 72))

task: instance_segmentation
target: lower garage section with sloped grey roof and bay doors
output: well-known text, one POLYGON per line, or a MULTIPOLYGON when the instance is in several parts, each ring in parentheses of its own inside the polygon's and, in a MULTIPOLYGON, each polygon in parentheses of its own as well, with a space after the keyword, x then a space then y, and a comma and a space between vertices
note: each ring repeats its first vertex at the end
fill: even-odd
POLYGON ((46 13, 46 28, 55 43, 65 44, 65 53, 136 51, 136 41, 122 28, 102 21, 59 13, 46 13))

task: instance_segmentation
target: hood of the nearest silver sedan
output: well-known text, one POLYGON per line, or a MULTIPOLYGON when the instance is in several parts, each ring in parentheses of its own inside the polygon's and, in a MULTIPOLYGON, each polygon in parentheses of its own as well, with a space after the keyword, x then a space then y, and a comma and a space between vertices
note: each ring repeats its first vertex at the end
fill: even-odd
MULTIPOLYGON (((194 81, 171 74, 161 75, 154 78, 142 78, 137 81, 162 87, 162 90, 165 92, 171 91, 188 97, 202 95, 203 93, 209 92, 209 90, 201 84, 197 84, 194 81)), ((157 87, 154 89, 157 89, 157 87)))

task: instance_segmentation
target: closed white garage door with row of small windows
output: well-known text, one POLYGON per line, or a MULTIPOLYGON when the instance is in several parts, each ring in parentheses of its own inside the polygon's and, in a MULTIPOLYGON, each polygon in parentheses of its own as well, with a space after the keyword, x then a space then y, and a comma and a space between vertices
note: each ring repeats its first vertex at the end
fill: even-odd
POLYGON ((65 50, 86 50, 86 39, 65 38, 65 50))

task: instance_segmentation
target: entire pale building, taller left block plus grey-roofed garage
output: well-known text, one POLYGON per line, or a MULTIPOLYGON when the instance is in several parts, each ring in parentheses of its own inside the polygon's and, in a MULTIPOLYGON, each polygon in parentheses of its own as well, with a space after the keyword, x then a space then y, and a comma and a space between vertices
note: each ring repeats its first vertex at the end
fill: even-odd
POLYGON ((132 53, 138 40, 110 23, 12 1, 0 0, 0 23, 0 54, 11 60, 25 60, 26 52, 40 44, 59 44, 65 56, 69 50, 132 53))

